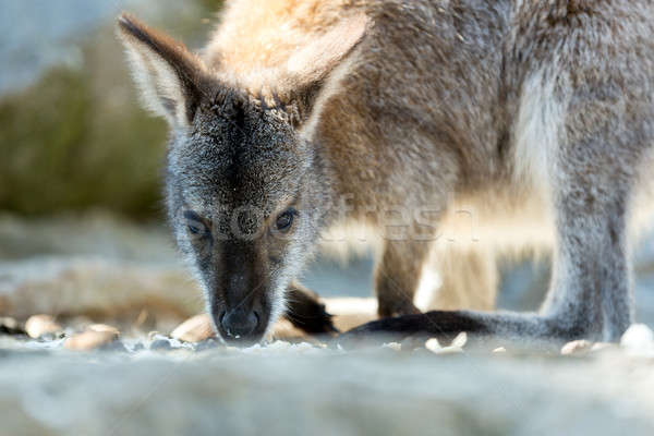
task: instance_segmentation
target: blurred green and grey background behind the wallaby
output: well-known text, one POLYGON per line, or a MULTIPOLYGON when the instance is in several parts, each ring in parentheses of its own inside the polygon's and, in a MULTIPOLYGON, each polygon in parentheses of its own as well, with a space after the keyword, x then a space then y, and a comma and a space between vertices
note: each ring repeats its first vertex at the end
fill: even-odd
MULTIPOLYGON (((133 12, 193 49, 218 0, 0 0, 0 316, 122 318, 166 329, 202 311, 164 221, 167 126, 137 105, 114 37, 133 12)), ((304 282, 370 296, 372 261, 319 257, 304 282)), ((507 261, 499 306, 536 308, 547 259, 507 261)), ((637 255, 639 319, 654 324, 654 240, 637 255)))

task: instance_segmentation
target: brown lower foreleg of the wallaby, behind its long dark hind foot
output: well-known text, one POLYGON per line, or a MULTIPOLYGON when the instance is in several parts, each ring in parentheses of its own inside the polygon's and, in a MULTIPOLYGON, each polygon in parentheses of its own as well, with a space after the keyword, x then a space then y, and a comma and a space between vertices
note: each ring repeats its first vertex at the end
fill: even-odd
POLYGON ((380 318, 416 314, 413 295, 428 254, 426 241, 387 240, 375 268, 375 291, 380 318), (408 262, 407 259, 411 259, 408 262))

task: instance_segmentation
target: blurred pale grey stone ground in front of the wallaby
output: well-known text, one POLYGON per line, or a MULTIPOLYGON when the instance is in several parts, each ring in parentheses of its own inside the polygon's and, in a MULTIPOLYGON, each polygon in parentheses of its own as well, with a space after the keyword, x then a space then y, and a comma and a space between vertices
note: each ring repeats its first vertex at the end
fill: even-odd
POLYGON ((150 350, 156 341, 80 353, 4 337, 1 433, 654 434, 651 353, 150 350))

